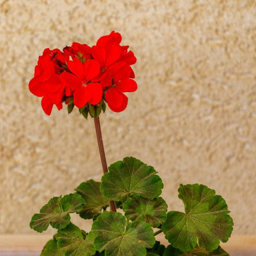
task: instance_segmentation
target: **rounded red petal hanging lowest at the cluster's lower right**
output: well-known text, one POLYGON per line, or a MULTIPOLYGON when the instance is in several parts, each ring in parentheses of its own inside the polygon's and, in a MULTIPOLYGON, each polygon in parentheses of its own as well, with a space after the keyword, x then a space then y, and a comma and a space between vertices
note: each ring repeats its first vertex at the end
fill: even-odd
POLYGON ((121 112, 126 108, 128 98, 123 93, 115 90, 115 88, 109 88, 105 96, 111 110, 121 112))

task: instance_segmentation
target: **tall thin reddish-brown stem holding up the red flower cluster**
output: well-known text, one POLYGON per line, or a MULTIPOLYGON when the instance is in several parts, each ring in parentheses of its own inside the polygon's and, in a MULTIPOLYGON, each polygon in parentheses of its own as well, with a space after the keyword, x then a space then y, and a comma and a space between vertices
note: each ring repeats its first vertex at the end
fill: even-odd
MULTIPOLYGON (((102 165, 103 173, 106 173, 106 172, 108 172, 108 167, 107 167, 107 161, 106 161, 103 140, 102 140, 102 135, 101 135, 100 118, 99 117, 94 117, 94 124, 95 124, 97 141, 98 141, 98 146, 99 146, 99 151, 100 151, 101 165, 102 165)), ((109 205, 110 205, 110 210, 113 212, 116 212, 116 206, 115 206, 114 201, 110 201, 109 205)))

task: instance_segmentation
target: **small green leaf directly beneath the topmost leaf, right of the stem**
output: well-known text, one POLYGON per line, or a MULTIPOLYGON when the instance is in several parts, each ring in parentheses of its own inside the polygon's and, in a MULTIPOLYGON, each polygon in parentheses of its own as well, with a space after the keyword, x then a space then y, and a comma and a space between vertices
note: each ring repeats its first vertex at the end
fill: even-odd
POLYGON ((162 197, 150 200, 133 195, 124 203, 123 211, 127 219, 146 221, 156 228, 166 220, 167 204, 162 197))

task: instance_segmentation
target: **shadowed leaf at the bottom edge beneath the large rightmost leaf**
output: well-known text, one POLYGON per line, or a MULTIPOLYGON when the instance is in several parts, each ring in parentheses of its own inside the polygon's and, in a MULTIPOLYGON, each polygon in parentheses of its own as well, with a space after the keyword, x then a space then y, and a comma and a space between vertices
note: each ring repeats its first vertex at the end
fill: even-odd
POLYGON ((172 247, 172 245, 169 245, 166 250, 164 251, 163 256, 229 256, 227 252, 225 252, 220 246, 218 249, 207 252, 202 248, 199 248, 198 246, 195 247, 193 251, 190 252, 182 252, 179 249, 176 249, 172 247))

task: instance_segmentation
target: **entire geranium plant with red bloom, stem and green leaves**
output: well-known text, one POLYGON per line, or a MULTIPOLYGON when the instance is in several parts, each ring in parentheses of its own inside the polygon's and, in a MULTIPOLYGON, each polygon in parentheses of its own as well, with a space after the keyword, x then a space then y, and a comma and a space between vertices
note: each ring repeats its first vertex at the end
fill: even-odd
POLYGON ((57 229, 41 255, 228 255, 219 244, 228 241, 233 220, 213 189, 181 184, 178 196, 185 211, 167 212, 160 197, 163 182, 154 167, 134 157, 107 167, 99 115, 107 105, 123 111, 128 102, 124 93, 137 90, 131 68, 136 58, 129 46, 120 45, 121 39, 112 31, 92 47, 73 43, 63 51, 45 49, 29 82, 47 115, 53 105, 60 110, 65 103, 68 113, 78 108, 86 119, 94 118, 103 169, 101 181, 82 182, 75 193, 51 198, 33 215, 32 229, 57 229), (89 233, 71 223, 71 213, 93 220, 89 233), (162 232, 170 245, 156 241, 162 232))

